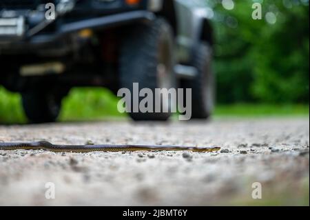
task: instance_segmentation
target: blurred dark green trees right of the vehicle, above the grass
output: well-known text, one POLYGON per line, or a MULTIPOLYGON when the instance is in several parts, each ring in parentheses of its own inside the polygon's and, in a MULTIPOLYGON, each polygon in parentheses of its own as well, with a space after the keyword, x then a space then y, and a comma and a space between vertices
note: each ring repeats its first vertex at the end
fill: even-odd
POLYGON ((209 1, 220 103, 309 103, 309 0, 209 1), (262 19, 252 5, 260 2, 262 19))

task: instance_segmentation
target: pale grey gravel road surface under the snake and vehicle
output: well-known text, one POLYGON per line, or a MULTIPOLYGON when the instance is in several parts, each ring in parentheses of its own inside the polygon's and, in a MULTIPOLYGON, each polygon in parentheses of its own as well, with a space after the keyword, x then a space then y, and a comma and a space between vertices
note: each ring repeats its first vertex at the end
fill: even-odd
MULTIPOLYGON (((309 206, 309 117, 0 126, 1 141, 220 146, 219 152, 0 150, 0 205, 309 206), (252 199, 252 183, 262 199, 252 199), (46 199, 46 183, 55 198, 46 199)), ((48 191, 50 192, 50 191, 48 191)))

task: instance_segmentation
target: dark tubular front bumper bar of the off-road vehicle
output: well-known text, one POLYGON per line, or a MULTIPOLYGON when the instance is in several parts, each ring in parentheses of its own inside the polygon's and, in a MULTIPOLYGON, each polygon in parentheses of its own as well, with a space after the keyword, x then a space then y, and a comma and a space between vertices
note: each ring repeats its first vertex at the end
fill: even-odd
POLYGON ((29 51, 54 50, 59 47, 62 50, 61 48, 68 46, 65 43, 68 42, 67 39, 70 39, 71 36, 74 36, 80 30, 103 30, 135 22, 152 21, 155 17, 156 15, 152 12, 137 10, 62 23, 56 26, 52 32, 41 32, 34 34, 32 37, 27 37, 27 31, 23 37, 7 38, 1 37, 0 34, 0 54, 23 54, 29 51))

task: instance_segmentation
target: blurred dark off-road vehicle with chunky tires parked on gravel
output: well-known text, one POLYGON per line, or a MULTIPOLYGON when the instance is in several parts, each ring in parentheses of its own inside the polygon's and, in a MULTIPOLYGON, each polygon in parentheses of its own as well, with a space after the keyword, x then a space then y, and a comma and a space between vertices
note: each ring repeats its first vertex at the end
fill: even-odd
MULTIPOLYGON (((192 88, 192 117, 207 118, 214 40, 205 2, 0 0, 0 85, 21 93, 34 123, 55 121, 72 87, 117 92, 133 83, 192 88)), ((130 116, 166 120, 170 113, 130 116)))

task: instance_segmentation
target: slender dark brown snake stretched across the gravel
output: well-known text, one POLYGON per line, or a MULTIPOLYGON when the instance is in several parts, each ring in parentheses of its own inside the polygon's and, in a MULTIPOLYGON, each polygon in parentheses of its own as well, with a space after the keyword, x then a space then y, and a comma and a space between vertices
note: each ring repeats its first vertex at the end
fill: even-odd
POLYGON ((56 145, 48 141, 0 142, 0 150, 47 150, 51 152, 134 152, 134 151, 192 151, 216 152, 219 147, 189 147, 168 145, 56 145))

